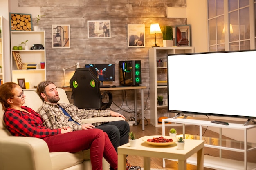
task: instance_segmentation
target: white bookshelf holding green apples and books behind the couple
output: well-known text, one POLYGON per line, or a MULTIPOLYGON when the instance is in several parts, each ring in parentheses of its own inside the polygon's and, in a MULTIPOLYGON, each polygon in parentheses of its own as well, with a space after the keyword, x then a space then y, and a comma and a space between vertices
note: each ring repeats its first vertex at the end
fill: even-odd
MULTIPOLYGON (((34 88, 41 81, 46 80, 46 65, 41 68, 41 62, 45 64, 45 31, 11 31, 11 79, 12 82, 18 83, 17 79, 25 79, 26 88, 34 88), (25 50, 24 44, 26 42, 29 50, 25 50), (31 50, 33 44, 42 44, 44 49, 31 50), (13 46, 23 46, 22 50, 13 50, 13 46), (20 55, 21 61, 15 61, 13 53, 20 55), (29 66, 23 65, 23 68, 18 68, 17 63, 36 64, 35 69, 28 69, 29 66), (29 83, 29 87, 28 84, 29 83)), ((33 67, 33 66, 32 66, 33 67)))

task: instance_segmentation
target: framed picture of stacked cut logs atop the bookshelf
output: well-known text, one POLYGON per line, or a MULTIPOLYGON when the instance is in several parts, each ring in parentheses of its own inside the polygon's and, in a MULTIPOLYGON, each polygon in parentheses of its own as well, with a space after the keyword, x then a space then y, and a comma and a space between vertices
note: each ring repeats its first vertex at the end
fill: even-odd
POLYGON ((32 31, 31 14, 26 13, 9 13, 10 14, 10 31, 32 31))

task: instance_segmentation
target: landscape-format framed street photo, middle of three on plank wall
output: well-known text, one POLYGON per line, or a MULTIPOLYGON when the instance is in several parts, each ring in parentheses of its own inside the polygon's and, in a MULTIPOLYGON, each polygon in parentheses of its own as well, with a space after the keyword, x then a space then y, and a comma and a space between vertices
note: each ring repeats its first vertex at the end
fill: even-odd
POLYGON ((88 38, 111 38, 110 21, 87 21, 88 38))

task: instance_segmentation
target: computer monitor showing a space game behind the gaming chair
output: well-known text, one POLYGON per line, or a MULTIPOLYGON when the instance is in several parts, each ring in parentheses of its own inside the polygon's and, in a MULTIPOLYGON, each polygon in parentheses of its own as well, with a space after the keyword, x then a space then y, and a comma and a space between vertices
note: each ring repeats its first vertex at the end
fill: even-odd
POLYGON ((115 81, 115 64, 85 64, 85 68, 91 68, 93 73, 103 82, 115 81))

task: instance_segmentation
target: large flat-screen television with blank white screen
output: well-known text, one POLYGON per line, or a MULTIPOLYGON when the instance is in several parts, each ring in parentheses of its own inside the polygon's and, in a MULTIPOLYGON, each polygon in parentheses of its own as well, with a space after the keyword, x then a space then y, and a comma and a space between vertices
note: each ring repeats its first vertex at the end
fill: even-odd
POLYGON ((168 111, 256 118, 256 51, 167 55, 168 111))

